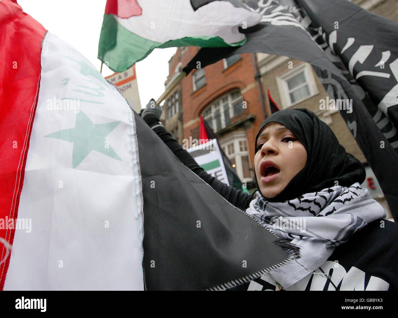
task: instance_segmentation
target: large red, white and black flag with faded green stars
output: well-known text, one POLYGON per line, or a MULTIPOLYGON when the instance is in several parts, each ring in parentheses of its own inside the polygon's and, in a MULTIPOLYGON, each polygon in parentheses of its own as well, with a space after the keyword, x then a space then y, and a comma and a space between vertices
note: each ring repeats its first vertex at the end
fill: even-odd
POLYGON ((226 289, 296 256, 15 1, 0 33, 0 290, 226 289))

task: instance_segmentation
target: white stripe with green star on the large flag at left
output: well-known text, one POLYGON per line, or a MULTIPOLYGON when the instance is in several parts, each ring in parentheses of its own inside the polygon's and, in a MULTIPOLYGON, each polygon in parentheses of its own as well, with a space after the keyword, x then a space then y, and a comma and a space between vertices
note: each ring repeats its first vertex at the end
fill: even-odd
POLYGON ((15 231, 4 290, 143 290, 134 116, 88 60, 50 33, 41 66, 18 211, 31 228, 15 231), (80 111, 49 110, 62 98, 77 99, 80 111), (98 131, 106 131, 102 139, 98 131))

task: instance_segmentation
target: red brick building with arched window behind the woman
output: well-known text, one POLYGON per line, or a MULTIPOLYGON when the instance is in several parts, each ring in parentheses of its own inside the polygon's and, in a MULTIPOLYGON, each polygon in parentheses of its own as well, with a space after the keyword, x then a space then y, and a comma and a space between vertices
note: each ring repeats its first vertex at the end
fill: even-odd
MULTIPOLYGON (((166 86, 197 51, 197 47, 177 49, 169 62, 166 86)), ((199 139, 199 119, 203 115, 235 164, 238 176, 247 182, 253 181, 254 142, 265 119, 255 65, 252 54, 242 54, 197 68, 182 80, 164 104, 166 129, 180 143, 184 138, 199 139), (178 107, 173 107, 176 103, 178 107)))

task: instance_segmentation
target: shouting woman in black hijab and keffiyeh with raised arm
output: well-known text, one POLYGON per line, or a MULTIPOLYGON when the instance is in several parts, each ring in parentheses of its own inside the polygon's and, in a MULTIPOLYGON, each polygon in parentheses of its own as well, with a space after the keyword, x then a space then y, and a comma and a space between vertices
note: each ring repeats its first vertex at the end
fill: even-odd
POLYGON ((159 122, 142 119, 177 158, 230 203, 277 236, 300 246, 300 258, 235 289, 398 289, 398 226, 360 184, 365 168, 347 154, 326 123, 308 109, 274 113, 261 125, 252 195, 207 174, 159 122))

